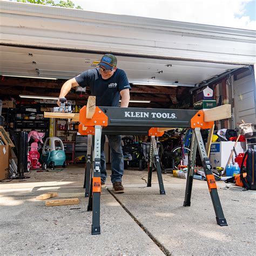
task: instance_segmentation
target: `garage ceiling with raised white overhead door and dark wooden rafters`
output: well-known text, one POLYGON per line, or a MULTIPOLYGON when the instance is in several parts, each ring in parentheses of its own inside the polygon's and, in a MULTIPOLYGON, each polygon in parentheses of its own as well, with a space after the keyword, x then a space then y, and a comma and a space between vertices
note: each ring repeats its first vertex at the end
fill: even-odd
MULTIPOLYGON (((4 76, 0 93, 3 96, 21 94, 58 96, 60 87, 66 79, 75 77, 87 69, 95 68, 102 56, 102 53, 97 52, 6 45, 0 46, 0 52, 1 75, 4 76), (36 77, 58 80, 36 79, 36 77)), ((177 96, 178 100, 184 98, 184 94, 188 93, 191 87, 204 80, 217 77, 227 70, 243 67, 243 65, 234 64, 118 56, 118 54, 117 58, 118 68, 125 70, 132 84, 131 99, 150 100, 151 103, 146 106, 154 107, 168 107, 172 104, 172 96, 177 96), (148 85, 137 85, 140 83, 148 85), (154 84, 163 86, 154 86, 154 84)), ((87 99, 89 93, 89 89, 86 89, 86 93, 73 92, 68 98, 83 101, 87 99)))

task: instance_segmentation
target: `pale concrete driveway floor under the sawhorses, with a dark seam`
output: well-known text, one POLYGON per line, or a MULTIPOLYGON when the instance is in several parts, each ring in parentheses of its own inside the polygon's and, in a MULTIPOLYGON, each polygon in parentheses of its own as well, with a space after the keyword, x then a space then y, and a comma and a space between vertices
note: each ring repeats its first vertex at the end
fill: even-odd
POLYGON ((103 188, 102 234, 91 235, 84 167, 60 170, 33 172, 30 179, 0 183, 0 254, 256 254, 255 192, 225 189, 226 184, 218 182, 228 223, 221 227, 215 222, 206 181, 194 180, 191 207, 183 207, 185 179, 163 174, 166 196, 161 196, 156 172, 152 187, 146 187, 146 171, 125 170, 124 194, 114 198, 103 188), (58 192, 53 199, 78 197, 80 204, 46 207, 44 201, 35 200, 49 191, 58 192))

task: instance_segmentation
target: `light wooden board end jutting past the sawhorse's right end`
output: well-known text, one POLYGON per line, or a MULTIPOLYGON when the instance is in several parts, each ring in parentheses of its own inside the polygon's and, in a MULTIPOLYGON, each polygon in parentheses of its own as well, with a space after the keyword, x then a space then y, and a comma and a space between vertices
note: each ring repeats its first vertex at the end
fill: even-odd
POLYGON ((231 117, 231 105, 226 104, 212 109, 204 110, 204 121, 211 122, 231 117))

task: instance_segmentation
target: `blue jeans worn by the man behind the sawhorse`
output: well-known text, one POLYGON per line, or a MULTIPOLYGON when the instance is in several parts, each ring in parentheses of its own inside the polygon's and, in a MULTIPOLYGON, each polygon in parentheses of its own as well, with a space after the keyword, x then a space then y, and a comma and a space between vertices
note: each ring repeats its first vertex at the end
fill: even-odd
MULTIPOLYGON (((111 150, 111 182, 122 181, 124 174, 124 156, 120 135, 107 135, 111 150)), ((100 142, 100 178, 103 183, 106 181, 106 160, 104 154, 105 135, 102 135, 100 142)))

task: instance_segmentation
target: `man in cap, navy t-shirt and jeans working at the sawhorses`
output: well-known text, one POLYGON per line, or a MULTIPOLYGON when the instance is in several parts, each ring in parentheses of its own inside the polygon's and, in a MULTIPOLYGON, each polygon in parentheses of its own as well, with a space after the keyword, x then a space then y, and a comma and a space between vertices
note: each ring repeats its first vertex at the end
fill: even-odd
MULTIPOLYGON (((117 58, 112 54, 105 54, 99 68, 86 70, 77 77, 66 81, 59 94, 59 98, 65 97, 72 87, 78 85, 89 86, 92 96, 96 96, 97 106, 118 106, 121 96, 121 107, 128 107, 131 86, 123 70, 117 68, 117 58)), ((58 105, 60 102, 58 100, 58 105)), ((111 149, 111 181, 114 193, 124 193, 122 176, 124 173, 124 158, 121 144, 121 136, 107 135, 111 149)), ((105 136, 102 136, 100 149, 100 178, 102 186, 106 182, 106 161, 104 155, 105 136)))

